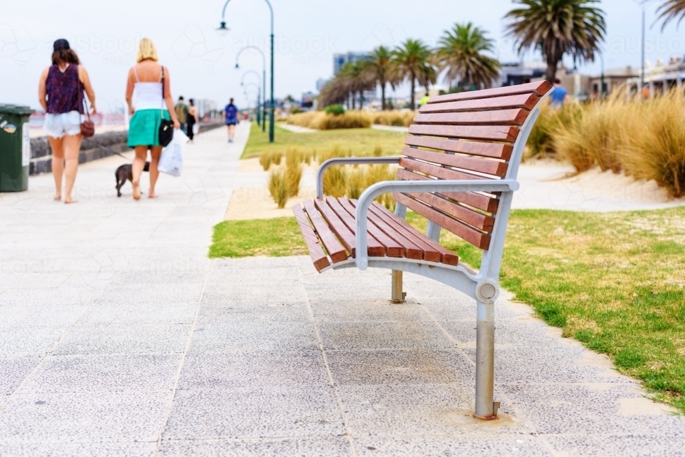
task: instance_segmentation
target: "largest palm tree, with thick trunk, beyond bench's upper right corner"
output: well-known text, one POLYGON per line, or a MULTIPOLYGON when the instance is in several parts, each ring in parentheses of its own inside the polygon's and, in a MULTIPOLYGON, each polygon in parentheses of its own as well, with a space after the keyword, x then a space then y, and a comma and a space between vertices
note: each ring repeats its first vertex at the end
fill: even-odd
POLYGON ((581 62, 593 62, 604 40, 604 12, 593 6, 599 0, 516 0, 516 8, 504 16, 508 36, 516 40, 519 53, 538 49, 547 60, 547 80, 553 82, 564 54, 581 62))

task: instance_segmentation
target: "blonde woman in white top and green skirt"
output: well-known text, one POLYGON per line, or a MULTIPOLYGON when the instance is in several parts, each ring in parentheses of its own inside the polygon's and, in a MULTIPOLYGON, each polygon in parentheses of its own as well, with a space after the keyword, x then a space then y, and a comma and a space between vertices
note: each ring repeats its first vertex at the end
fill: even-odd
POLYGON ((173 121, 173 127, 181 127, 171 98, 171 77, 166 67, 158 64, 157 49, 149 38, 143 38, 138 45, 136 64, 129 70, 126 84, 126 103, 132 114, 129 123, 128 146, 136 151, 133 172, 133 198, 140 199, 140 175, 145 168, 147 150, 150 149, 149 198, 157 197, 155 184, 160 172, 157 166, 162 155, 159 130, 162 119, 173 121), (136 103, 133 103, 134 90, 136 103), (162 91, 164 97, 162 97, 162 91))

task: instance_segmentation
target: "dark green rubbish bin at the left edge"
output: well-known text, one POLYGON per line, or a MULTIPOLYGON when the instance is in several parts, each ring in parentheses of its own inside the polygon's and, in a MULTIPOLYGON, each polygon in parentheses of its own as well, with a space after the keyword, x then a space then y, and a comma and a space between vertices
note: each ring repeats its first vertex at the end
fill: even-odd
POLYGON ((28 106, 0 104, 0 192, 22 192, 29 188, 28 106))

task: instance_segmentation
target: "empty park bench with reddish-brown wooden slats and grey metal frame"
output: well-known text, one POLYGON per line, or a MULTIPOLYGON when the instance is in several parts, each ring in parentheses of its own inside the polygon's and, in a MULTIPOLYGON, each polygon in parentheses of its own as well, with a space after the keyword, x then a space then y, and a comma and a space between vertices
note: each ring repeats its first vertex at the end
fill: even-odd
POLYGON ((401 157, 336 158, 319 167, 317 198, 292 208, 314 267, 393 270, 392 299, 403 300, 402 273, 443 282, 477 302, 475 416, 497 417, 493 402, 494 303, 516 175, 526 140, 551 91, 547 81, 440 95, 421 107, 401 157), (336 164, 399 164, 397 180, 367 188, 358 200, 325 198, 323 173, 336 164), (373 199, 393 193, 395 214, 373 199), (403 219, 428 220, 425 234, 403 219), (449 230, 483 250, 479 271, 440 246, 449 230))

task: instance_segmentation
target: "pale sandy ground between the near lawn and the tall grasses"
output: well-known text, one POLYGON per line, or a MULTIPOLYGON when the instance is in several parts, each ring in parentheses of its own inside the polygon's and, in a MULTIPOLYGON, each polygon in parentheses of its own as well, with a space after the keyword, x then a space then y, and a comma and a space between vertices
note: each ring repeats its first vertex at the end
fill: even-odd
MULTIPOLYGON (((286 208, 278 209, 266 188, 269 173, 264 172, 259 159, 241 160, 226 219, 290 216, 291 206, 316 196, 316 167, 312 164, 305 169, 299 195, 288 200, 286 208)), ((608 212, 685 205, 685 199, 669 198, 656 182, 599 169, 573 175, 572 166, 554 160, 521 164, 519 182, 521 189, 514 193, 512 208, 608 212)))

